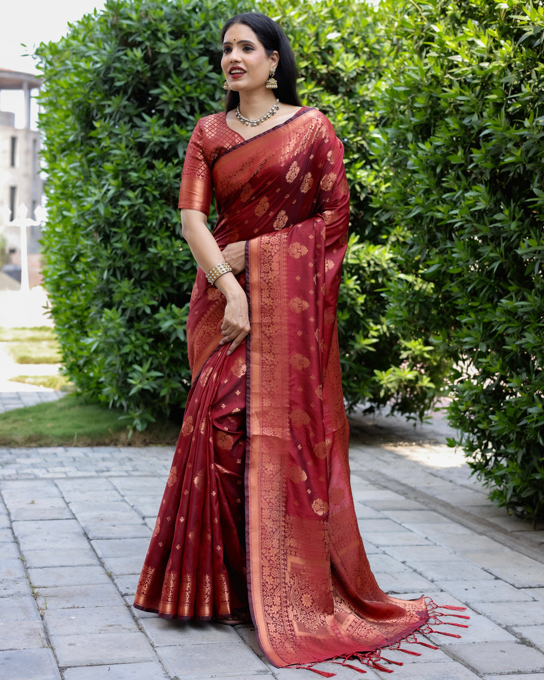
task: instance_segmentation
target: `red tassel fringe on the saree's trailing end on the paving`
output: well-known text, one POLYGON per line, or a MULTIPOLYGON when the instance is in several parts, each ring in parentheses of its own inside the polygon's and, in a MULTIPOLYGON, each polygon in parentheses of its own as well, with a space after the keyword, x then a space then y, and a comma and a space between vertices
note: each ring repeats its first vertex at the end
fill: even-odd
MULTIPOLYGON (((438 633, 440 635, 447 635, 448 637, 460 638, 460 635, 457 635, 455 633, 447 633, 444 632, 443 630, 434 630, 429 625, 429 622, 431 622, 432 626, 440 626, 447 624, 448 626, 469 628, 469 626, 467 626, 466 624, 456 624, 450 621, 442 621, 441 619, 444 616, 454 616, 458 619, 470 619, 470 616, 460 614, 447 614, 438 611, 439 609, 464 611, 466 607, 454 607, 454 605, 439 606, 435 602, 433 602, 430 598, 426 598, 425 603, 427 605, 429 613, 428 622, 421 626, 420 628, 418 628, 418 630, 416 630, 415 632, 411 633, 404 640, 394 643, 394 645, 389 645, 388 649, 390 649, 391 651, 403 651, 405 654, 412 654, 413 656, 421 656, 421 654, 418 651, 411 651, 411 649, 403 649, 401 647, 401 644, 422 645, 422 647, 429 647, 430 649, 439 649, 435 645, 430 645, 429 643, 421 642, 420 640, 418 640, 416 633, 421 633, 424 635, 427 635, 429 633, 438 633)), ((335 659, 331 659, 328 663, 338 664, 339 666, 345 666, 346 668, 352 668, 352 670, 356 670, 358 673, 367 673, 367 671, 364 670, 363 668, 358 668, 357 666, 347 664, 346 662, 357 660, 363 666, 367 666, 368 668, 374 668, 375 670, 381 670, 382 673, 393 673, 393 670, 392 668, 386 668, 386 666, 383 666, 381 662, 385 662, 387 664, 394 664, 395 666, 404 665, 403 662, 401 661, 393 661, 392 659, 386 659, 384 656, 381 656, 381 651, 382 651, 381 649, 376 649, 375 651, 368 651, 367 653, 353 653, 348 654, 346 656, 338 656, 335 659), (341 661, 337 661, 336 659, 341 659, 341 661)), ((332 678, 336 675, 336 673, 327 673, 325 670, 318 670, 317 668, 313 668, 313 665, 314 664, 297 664, 296 666, 288 666, 288 668, 305 668, 305 670, 311 670, 312 673, 317 673, 318 675, 321 675, 324 678, 332 678)))

